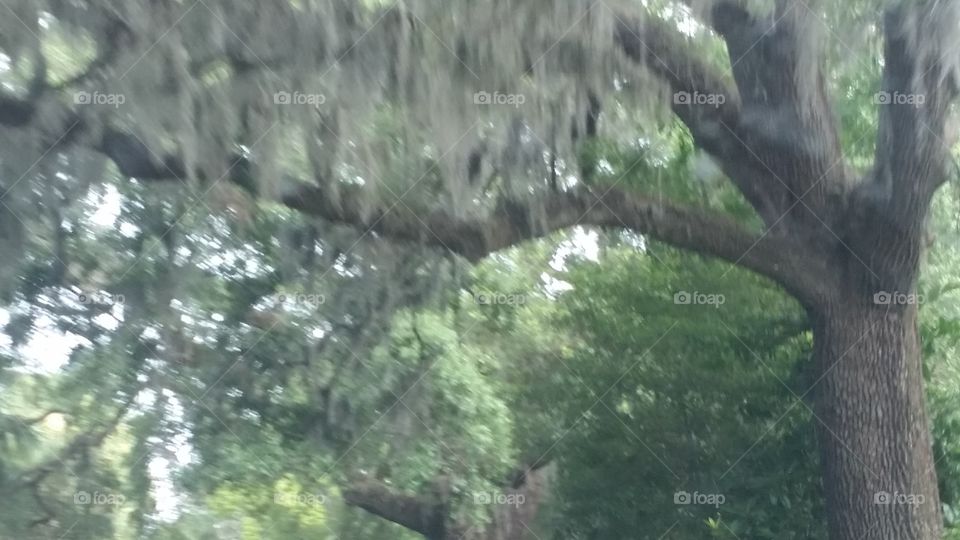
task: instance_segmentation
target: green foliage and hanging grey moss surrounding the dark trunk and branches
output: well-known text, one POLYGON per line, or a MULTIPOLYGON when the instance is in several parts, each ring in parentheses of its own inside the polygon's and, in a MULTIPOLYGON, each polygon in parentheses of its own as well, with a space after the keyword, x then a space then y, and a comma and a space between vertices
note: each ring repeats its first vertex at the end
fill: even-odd
MULTIPOLYGON (((559 181, 759 224, 689 131, 651 112, 665 88, 624 91, 650 81, 597 43, 619 2, 450 3, 455 16, 426 0, 4 6, 0 86, 45 101, 28 135, 0 128, 0 538, 412 540, 348 493, 377 481, 479 530, 530 502, 511 489, 535 471, 548 481, 528 538, 827 537, 812 332, 771 281, 580 227, 468 262, 431 237, 281 204, 283 189, 332 176, 338 203, 366 186, 360 213, 474 216, 559 181), (122 52, 100 48, 132 35, 122 52), (129 69, 105 68, 117 62, 129 69), (264 106, 302 88, 323 102, 264 106), (487 90, 529 98, 529 114, 472 107, 487 90), (124 102, 74 116, 76 92, 124 102), (593 92, 609 100, 603 134, 588 126, 593 92), (57 131, 74 120, 82 132, 57 131), (146 139, 125 150, 157 149, 150 166, 183 178, 51 141, 109 154, 117 126, 146 139), (475 151, 447 156, 455 140, 475 151), (182 162, 160 157, 173 148, 188 149, 182 162)), ((869 17, 854 4, 823 16, 869 17)), ((836 39, 824 46, 848 98, 840 122, 876 131, 875 32, 857 36, 857 61, 835 58, 836 39)), ((0 96, 0 113, 13 101, 0 96)), ((865 169, 864 137, 842 144, 865 169)), ((957 199, 936 199, 918 292, 940 493, 960 538, 957 199)))

